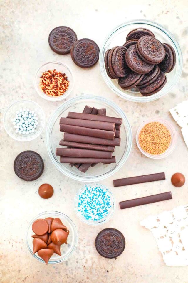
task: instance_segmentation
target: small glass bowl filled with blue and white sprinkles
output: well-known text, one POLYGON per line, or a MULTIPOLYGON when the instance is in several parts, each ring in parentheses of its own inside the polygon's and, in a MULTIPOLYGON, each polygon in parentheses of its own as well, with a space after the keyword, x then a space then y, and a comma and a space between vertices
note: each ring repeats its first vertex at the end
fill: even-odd
POLYGON ((75 196, 74 209, 84 223, 100 225, 107 222, 113 215, 115 198, 112 192, 102 184, 86 184, 75 196))

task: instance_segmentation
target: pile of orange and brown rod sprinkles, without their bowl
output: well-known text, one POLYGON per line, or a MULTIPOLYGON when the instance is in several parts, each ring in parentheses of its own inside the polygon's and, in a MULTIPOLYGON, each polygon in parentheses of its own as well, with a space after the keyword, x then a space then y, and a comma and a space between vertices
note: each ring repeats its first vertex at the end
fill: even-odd
POLYGON ((65 73, 57 72, 54 69, 42 73, 39 85, 45 94, 61 96, 68 90, 69 81, 65 73))

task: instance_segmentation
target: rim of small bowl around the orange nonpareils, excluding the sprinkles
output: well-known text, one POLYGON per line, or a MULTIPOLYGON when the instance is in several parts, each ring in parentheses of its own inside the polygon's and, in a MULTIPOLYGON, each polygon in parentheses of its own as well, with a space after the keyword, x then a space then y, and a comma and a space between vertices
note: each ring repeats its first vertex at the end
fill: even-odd
POLYGON ((142 154, 144 154, 146 157, 149 157, 149 158, 152 158, 152 159, 162 159, 162 158, 166 158, 167 156, 169 156, 169 155, 174 151, 174 149, 175 149, 175 147, 176 147, 176 144, 177 144, 177 133, 176 133, 176 130, 175 130, 174 126, 172 126, 172 124, 171 124, 169 121, 167 121, 167 120, 164 120, 164 119, 161 119, 161 118, 151 118, 151 119, 147 119, 146 121, 144 121, 144 122, 139 126, 139 128, 138 128, 138 130, 137 130, 137 133, 136 133, 136 144, 137 144, 137 147, 138 147, 138 149, 140 150, 140 152, 141 152, 142 154), (140 134, 141 129, 142 129, 146 124, 148 124, 148 123, 150 123, 150 122, 155 122, 155 121, 160 122, 161 124, 164 124, 164 126, 165 126, 165 124, 167 124, 168 127, 170 128, 171 137, 172 137, 171 145, 170 145, 170 147, 168 148, 169 151, 167 152, 167 150, 168 150, 168 149, 167 149, 167 150, 166 150, 165 152, 163 152, 162 154, 156 154, 156 155, 145 152, 145 151, 140 147, 140 143, 139 143, 139 140, 138 140, 138 136, 139 136, 139 134, 140 134), (172 136, 172 134, 173 134, 173 136, 172 136))

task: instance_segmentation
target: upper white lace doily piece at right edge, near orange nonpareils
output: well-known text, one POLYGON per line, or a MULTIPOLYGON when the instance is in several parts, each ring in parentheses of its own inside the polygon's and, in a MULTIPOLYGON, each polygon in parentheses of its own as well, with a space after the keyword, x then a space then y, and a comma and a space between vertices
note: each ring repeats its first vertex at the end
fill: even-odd
POLYGON ((188 147, 188 100, 177 104, 169 111, 177 124, 182 127, 182 135, 188 147))

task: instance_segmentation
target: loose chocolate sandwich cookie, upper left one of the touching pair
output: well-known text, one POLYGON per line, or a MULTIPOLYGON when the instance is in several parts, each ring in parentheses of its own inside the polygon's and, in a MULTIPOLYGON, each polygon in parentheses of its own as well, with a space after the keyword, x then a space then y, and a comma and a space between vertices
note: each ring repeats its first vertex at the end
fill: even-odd
POLYGON ((49 34, 48 43, 50 48, 58 54, 70 53, 73 43, 77 40, 77 35, 70 27, 55 27, 49 34))

